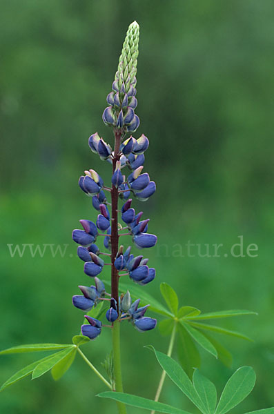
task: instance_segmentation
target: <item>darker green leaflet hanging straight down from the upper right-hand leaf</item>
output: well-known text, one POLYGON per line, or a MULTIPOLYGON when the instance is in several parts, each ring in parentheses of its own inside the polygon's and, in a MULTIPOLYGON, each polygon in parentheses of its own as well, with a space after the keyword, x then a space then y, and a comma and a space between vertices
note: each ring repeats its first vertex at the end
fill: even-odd
POLYGON ((177 330, 179 332, 177 337, 177 355, 179 363, 184 368, 184 371, 186 371, 188 377, 192 378, 193 368, 199 368, 201 365, 201 357, 195 342, 184 326, 177 324, 177 330))

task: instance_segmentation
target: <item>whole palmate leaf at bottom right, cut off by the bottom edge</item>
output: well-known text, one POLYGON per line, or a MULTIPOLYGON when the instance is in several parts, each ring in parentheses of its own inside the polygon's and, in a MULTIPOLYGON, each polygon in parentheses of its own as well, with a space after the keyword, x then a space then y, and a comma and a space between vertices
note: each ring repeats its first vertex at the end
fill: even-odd
MULTIPOLYGON (((193 382, 191 382, 182 366, 179 366, 174 359, 162 352, 156 351, 153 346, 149 346, 149 348, 153 349, 155 352, 157 361, 164 371, 166 371, 170 380, 177 385, 177 387, 203 414, 225 414, 242 402, 253 390, 256 380, 255 372, 251 366, 242 366, 237 369, 237 371, 235 371, 229 378, 228 382, 226 382, 224 391, 222 392, 217 408, 215 409, 217 402, 216 388, 208 378, 199 373, 198 369, 195 369, 193 373, 193 382)), ((159 413, 186 413, 186 411, 179 410, 179 408, 167 406, 166 404, 147 400, 146 398, 137 397, 135 395, 106 392, 99 394, 99 397, 111 398, 112 400, 124 402, 125 404, 138 408, 159 411, 159 413)), ((246 414, 273 413, 274 407, 252 411, 246 414)))

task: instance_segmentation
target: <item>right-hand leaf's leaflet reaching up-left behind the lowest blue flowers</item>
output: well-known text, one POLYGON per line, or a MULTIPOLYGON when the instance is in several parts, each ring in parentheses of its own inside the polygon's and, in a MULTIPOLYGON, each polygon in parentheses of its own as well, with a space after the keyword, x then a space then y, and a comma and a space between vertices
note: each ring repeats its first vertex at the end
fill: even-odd
MULTIPOLYGON (((104 283, 110 286, 110 282, 105 281, 104 283)), ((168 311, 168 309, 163 306, 160 302, 158 302, 153 296, 151 296, 149 293, 147 293, 143 288, 139 288, 139 286, 136 286, 135 284, 126 284, 123 282, 119 282, 119 291, 121 293, 125 293, 126 290, 130 290, 130 295, 133 297, 133 299, 139 299, 141 298, 141 306, 144 306, 146 304, 150 304, 150 311, 153 311, 155 313, 158 313, 159 315, 164 316, 171 316, 173 317, 173 313, 168 311)))

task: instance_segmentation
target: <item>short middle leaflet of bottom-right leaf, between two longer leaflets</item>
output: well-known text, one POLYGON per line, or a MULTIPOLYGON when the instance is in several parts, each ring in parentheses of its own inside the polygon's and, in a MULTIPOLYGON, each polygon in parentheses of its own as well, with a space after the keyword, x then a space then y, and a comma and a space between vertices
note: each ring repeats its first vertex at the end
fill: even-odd
POLYGON ((213 382, 204 377, 198 369, 193 374, 193 385, 205 407, 205 414, 214 414, 217 392, 213 382))

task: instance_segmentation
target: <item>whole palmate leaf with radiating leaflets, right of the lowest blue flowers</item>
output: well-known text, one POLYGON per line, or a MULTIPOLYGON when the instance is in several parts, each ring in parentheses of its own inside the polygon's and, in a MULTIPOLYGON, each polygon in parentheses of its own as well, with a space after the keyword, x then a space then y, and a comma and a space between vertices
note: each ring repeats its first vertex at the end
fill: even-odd
MULTIPOLYGON (((126 286, 121 286, 121 288, 126 288, 126 286)), ((150 296, 145 293, 146 300, 148 301, 147 303, 150 303, 149 299, 151 299, 154 304, 154 306, 150 306, 151 311, 158 313, 159 315, 168 316, 168 318, 163 319, 158 324, 159 331, 162 335, 171 335, 173 322, 177 324, 177 331, 179 332, 179 339, 177 340, 177 356, 180 364, 189 377, 192 377, 193 375, 193 368, 199 368, 201 364, 201 357, 199 355, 197 347, 195 346, 195 343, 204 348, 204 350, 213 355, 215 358, 219 358, 219 360, 226 366, 231 366, 231 354, 226 350, 226 348, 224 348, 224 346, 222 346, 222 344, 219 344, 215 338, 211 337, 211 335, 208 335, 208 331, 222 335, 238 337, 240 339, 246 339, 249 341, 252 340, 242 333, 230 331, 220 326, 204 324, 199 321, 203 319, 219 319, 222 317, 256 315, 255 312, 231 310, 201 313, 199 309, 193 306, 182 306, 178 310, 179 301, 175 290, 173 290, 173 288, 171 288, 171 286, 169 286, 167 283, 162 283, 160 289, 170 311, 168 311, 166 308, 163 308, 162 304, 159 304, 159 302, 156 302, 155 299, 152 297, 150 298, 150 296), (167 315, 167 312, 169 315, 167 315), (206 331, 206 333, 203 331, 206 331)), ((132 289, 130 291, 132 291, 132 289)), ((139 287, 134 287, 133 296, 135 298, 141 297, 141 290, 139 287)))

